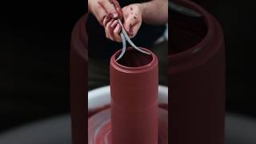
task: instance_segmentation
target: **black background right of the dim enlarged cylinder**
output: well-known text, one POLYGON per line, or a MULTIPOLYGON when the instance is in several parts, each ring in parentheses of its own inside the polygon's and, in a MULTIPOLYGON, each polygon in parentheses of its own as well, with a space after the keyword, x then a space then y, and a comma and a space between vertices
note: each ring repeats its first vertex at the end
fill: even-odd
POLYGON ((194 0, 214 14, 226 40, 226 108, 256 117, 255 2, 194 0))

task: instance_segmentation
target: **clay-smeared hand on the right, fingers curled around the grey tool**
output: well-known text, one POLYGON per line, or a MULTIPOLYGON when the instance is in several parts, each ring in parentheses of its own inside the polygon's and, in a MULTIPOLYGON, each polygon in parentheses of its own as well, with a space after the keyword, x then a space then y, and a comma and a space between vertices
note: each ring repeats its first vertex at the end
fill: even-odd
MULTIPOLYGON (((130 38, 134 38, 142 25, 141 8, 140 4, 131 4, 122 8, 123 26, 130 38)), ((115 42, 122 42, 120 37, 122 27, 117 20, 112 19, 108 22, 107 18, 104 18, 103 25, 105 26, 106 38, 115 42)))

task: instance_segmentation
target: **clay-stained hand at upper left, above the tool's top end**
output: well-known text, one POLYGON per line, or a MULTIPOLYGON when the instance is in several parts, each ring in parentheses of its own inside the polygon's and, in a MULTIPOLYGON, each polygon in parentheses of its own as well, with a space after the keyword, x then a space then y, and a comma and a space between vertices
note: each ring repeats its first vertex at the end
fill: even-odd
POLYGON ((89 12, 93 13, 103 26, 104 18, 110 22, 112 18, 122 18, 122 10, 117 0, 88 0, 89 12))

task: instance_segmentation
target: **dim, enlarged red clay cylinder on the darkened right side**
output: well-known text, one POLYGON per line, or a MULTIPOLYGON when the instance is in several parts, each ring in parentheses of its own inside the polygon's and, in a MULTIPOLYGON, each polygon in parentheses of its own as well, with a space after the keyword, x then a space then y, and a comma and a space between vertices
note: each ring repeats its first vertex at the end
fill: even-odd
POLYGON ((174 144, 223 144, 225 49, 222 28, 202 7, 202 18, 170 14, 170 141, 174 144))

